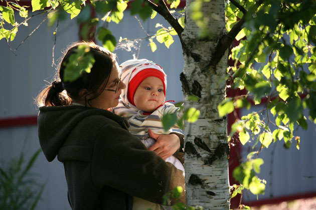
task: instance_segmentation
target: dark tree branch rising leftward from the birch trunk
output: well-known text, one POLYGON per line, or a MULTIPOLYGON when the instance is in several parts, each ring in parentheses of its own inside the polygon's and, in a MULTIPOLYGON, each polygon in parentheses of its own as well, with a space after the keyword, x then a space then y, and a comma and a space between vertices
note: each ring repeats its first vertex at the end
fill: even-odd
POLYGON ((166 3, 164 0, 159 0, 159 4, 155 4, 150 0, 147 0, 149 6, 155 10, 157 13, 162 15, 169 24, 176 30, 179 37, 181 38, 181 33, 183 32, 183 27, 178 22, 178 19, 176 19, 169 11, 166 3))

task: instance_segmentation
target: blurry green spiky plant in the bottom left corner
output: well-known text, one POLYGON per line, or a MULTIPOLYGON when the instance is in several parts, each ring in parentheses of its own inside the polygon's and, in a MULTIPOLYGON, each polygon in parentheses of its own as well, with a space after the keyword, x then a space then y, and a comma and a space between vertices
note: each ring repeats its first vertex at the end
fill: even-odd
POLYGON ((19 159, 12 159, 7 168, 0 167, 0 209, 35 209, 44 190, 30 172, 42 150, 38 149, 26 162, 22 151, 19 159))

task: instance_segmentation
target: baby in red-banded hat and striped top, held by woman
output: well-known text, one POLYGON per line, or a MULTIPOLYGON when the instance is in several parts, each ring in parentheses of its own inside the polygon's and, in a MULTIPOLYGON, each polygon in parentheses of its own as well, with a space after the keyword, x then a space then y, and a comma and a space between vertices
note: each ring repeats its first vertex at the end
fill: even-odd
MULTIPOLYGON (((163 128, 161 118, 164 114, 176 112, 180 117, 180 108, 172 103, 165 102, 167 75, 163 68, 147 59, 127 60, 121 64, 121 67, 121 80, 126 84, 126 88, 122 89, 121 99, 119 104, 113 108, 113 112, 128 119, 130 123, 129 131, 139 137, 147 148, 155 143, 155 139, 148 134, 148 128, 159 134, 183 133, 177 125, 167 131, 163 128)), ((168 157, 166 161, 184 171, 182 163, 175 156, 168 157)), ((156 205, 154 206, 149 203, 149 201, 134 197, 133 209, 166 208, 166 206, 158 206, 152 203, 156 205), (139 205, 140 203, 141 205, 139 205), (144 206, 147 208, 144 208, 144 206)))

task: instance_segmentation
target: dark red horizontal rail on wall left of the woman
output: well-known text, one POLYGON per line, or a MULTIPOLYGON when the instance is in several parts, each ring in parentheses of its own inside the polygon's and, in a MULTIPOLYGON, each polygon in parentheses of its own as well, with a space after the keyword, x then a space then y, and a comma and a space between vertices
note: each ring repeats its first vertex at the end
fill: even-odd
POLYGON ((0 128, 18 127, 37 124, 37 116, 18 116, 0 119, 0 128))

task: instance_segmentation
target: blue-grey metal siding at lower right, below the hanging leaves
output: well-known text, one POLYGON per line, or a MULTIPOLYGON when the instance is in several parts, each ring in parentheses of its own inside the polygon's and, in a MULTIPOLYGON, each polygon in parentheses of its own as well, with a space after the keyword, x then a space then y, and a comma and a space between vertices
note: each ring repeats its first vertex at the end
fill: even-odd
MULTIPOLYGON (((262 108, 264 108, 262 105, 252 106, 250 110, 242 109, 241 114, 259 111, 262 108)), ((307 112, 305 112, 305 115, 308 115, 307 112)), ((274 118, 271 113, 269 117, 274 118)), ((273 131, 275 127, 271 123, 269 125, 273 131)), ((264 160, 264 164, 261 166, 258 177, 265 179, 267 184, 265 194, 259 195, 259 200, 316 192, 316 154, 314 152, 316 148, 316 125, 308 120, 308 129, 294 128, 293 135, 300 136, 299 150, 296 149, 295 140, 292 140, 289 149, 285 149, 283 147, 284 140, 282 139, 274 144, 271 143, 268 148, 263 148, 260 151, 258 157, 264 160), (313 178, 307 176, 313 176, 313 178)), ((253 142, 241 146, 244 160, 249 153, 247 151, 251 149, 255 140, 256 138, 253 142)), ((258 146, 256 147, 258 148, 258 146)), ((256 201, 257 198, 250 193, 245 194, 243 200, 256 201)))

